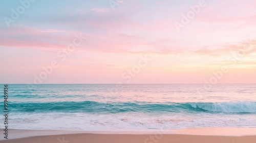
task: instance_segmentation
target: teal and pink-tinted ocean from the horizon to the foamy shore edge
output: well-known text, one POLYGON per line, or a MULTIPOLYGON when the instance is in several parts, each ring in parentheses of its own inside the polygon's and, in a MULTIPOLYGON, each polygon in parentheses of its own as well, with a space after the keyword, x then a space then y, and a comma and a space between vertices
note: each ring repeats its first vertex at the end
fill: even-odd
MULTIPOLYGON (((210 90, 203 84, 8 86, 10 129, 256 127, 256 84, 216 84, 210 90)), ((1 92, 3 89, 1 84, 1 92)))

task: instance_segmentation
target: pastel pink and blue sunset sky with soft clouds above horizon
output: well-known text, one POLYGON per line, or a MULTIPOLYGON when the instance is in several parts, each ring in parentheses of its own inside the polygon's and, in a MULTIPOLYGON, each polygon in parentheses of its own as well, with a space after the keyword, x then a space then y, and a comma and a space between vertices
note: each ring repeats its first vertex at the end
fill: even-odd
POLYGON ((0 83, 255 83, 256 2, 0 2, 0 83))

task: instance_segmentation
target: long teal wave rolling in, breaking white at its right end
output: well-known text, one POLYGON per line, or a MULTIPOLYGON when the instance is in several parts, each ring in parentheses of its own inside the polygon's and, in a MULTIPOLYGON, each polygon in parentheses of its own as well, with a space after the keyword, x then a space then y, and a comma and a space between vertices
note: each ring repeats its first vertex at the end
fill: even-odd
POLYGON ((223 103, 150 103, 150 102, 37 102, 9 103, 13 112, 209 112, 209 113, 256 113, 256 102, 223 103))

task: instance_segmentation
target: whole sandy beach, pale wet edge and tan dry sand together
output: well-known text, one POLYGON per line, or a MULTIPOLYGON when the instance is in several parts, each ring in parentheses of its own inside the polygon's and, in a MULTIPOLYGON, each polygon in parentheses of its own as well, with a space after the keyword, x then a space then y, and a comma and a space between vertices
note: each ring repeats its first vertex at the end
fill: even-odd
MULTIPOLYGON (((209 129, 209 128, 208 128, 209 129)), ((220 128, 215 129, 216 131, 220 128)), ((9 136, 13 139, 1 139, 0 142, 11 143, 80 143, 80 142, 106 142, 106 143, 161 143, 161 142, 212 142, 212 143, 250 143, 256 142, 256 135, 188 135, 182 134, 184 132, 191 132, 198 129, 179 130, 178 132, 84 132, 84 131, 56 131, 56 130, 10 130, 9 136), (175 134, 174 134, 175 133, 175 134), (181 134, 176 134, 181 133, 181 134)), ((200 129, 199 129, 200 130, 200 129)), ((204 132, 201 129, 199 132, 204 132)), ((230 129, 229 129, 230 130, 230 129)), ((246 129, 239 129, 240 131, 246 129)), ((255 128, 249 129, 255 130, 255 128)), ((212 130, 211 130, 212 131, 212 130)), ((205 130, 205 133, 209 130, 205 130)), ((242 133, 242 132, 240 132, 242 133)))

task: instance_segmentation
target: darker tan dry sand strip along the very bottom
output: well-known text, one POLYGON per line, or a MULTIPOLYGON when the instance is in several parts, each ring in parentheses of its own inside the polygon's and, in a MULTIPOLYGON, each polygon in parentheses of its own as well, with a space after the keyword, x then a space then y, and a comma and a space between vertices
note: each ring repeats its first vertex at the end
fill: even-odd
POLYGON ((60 134, 60 135, 45 135, 32 136, 25 138, 0 140, 6 143, 255 143, 256 135, 254 136, 209 136, 209 135, 179 135, 179 134, 60 134))

